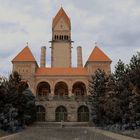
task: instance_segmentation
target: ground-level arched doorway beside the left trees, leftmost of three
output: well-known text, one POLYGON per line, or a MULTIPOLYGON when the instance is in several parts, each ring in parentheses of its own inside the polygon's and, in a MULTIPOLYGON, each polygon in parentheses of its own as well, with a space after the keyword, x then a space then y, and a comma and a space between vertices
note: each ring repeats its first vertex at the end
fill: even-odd
POLYGON ((38 122, 45 121, 45 108, 41 105, 36 107, 36 120, 38 122))

